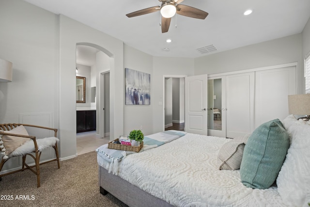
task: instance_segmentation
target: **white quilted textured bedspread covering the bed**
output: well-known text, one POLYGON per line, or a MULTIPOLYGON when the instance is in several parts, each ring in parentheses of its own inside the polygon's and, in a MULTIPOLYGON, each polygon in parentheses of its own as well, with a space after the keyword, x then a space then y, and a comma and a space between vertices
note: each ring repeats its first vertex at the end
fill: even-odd
MULTIPOLYGON (((187 133, 127 156, 120 162, 119 176, 178 207, 285 206, 276 187, 253 190, 241 183, 239 170, 217 170, 219 148, 228 141, 187 133)), ((103 166, 102 160, 98 163, 103 166)))

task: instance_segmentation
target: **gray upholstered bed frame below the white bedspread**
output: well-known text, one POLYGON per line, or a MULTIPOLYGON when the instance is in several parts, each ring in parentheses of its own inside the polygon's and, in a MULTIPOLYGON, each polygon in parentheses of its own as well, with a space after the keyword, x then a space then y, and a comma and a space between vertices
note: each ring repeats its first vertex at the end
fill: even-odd
POLYGON ((98 182, 100 193, 115 196, 129 207, 173 207, 160 198, 147 193, 117 175, 108 173, 108 170, 98 166, 98 182))

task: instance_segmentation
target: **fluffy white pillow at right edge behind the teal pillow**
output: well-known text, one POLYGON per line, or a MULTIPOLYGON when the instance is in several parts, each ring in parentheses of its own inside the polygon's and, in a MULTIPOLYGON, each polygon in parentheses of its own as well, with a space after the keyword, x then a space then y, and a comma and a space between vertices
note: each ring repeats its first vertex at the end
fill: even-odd
POLYGON ((277 178, 279 195, 291 206, 307 207, 310 202, 310 122, 293 115, 282 121, 291 145, 277 178))

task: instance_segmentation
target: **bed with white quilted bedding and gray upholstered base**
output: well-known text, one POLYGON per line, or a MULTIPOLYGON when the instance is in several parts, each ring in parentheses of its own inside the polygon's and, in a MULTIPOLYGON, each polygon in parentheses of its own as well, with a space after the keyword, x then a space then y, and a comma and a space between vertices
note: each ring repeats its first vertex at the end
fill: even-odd
MULTIPOLYGON (((236 140, 173 130, 168 133, 181 136, 158 146, 144 144, 145 150, 127 155, 123 152, 114 161, 108 161, 113 156, 109 158, 103 153, 105 147, 98 148, 100 192, 111 193, 132 207, 308 206, 310 188, 305 183, 310 183, 310 124, 292 115, 281 123, 283 133, 289 135, 289 145, 276 180, 268 188, 257 187, 255 183, 254 187, 248 187, 243 176, 252 169, 245 167, 244 159, 248 150, 253 150, 247 145, 256 130, 249 137, 236 140), (239 159, 240 170, 235 169, 238 164, 236 167, 229 159, 220 158, 224 146, 231 147, 231 143, 235 149, 228 157, 239 159)), ((146 137, 163 136, 162 133, 146 137)), ((259 166, 260 169, 264 168, 259 166)))

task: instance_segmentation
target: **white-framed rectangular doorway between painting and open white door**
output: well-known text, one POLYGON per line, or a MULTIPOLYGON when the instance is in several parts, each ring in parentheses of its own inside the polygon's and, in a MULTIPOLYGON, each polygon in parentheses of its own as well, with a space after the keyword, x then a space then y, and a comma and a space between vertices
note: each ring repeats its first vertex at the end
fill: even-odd
POLYGON ((185 77, 163 76, 163 131, 184 131, 185 77))

